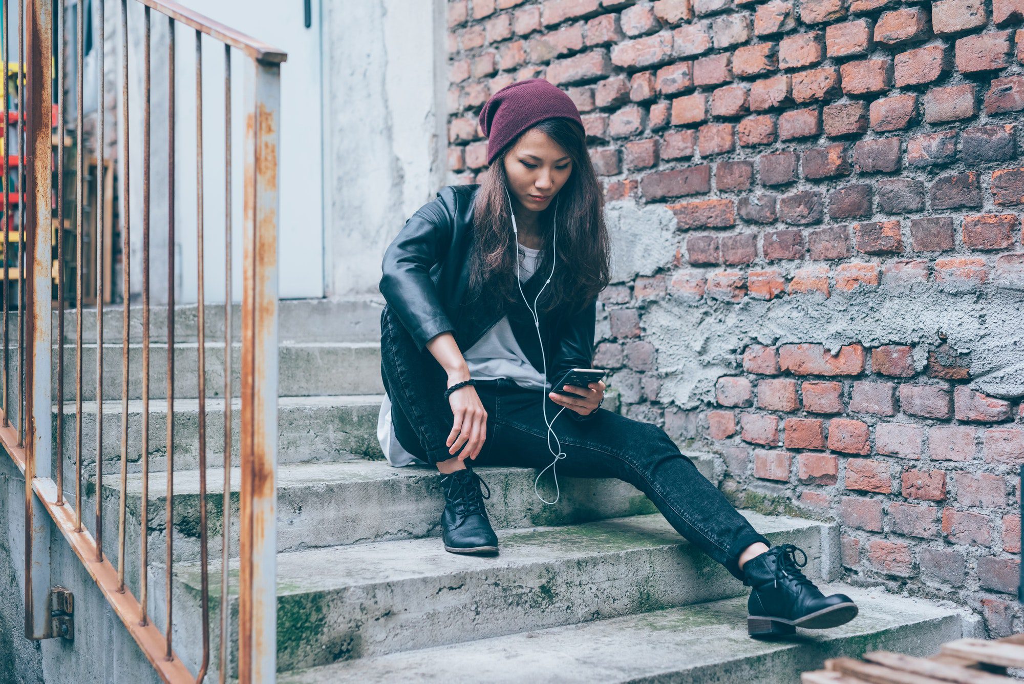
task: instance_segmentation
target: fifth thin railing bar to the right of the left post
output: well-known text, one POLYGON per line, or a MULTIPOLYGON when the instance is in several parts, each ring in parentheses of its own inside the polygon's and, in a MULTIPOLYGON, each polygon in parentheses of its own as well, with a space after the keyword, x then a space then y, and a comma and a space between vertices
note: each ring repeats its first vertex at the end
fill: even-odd
POLYGON ((150 531, 150 6, 144 9, 145 43, 143 46, 142 90, 145 103, 142 113, 142 510, 141 540, 139 550, 139 592, 138 602, 142 606, 139 625, 145 627, 146 589, 148 587, 147 535, 150 531))

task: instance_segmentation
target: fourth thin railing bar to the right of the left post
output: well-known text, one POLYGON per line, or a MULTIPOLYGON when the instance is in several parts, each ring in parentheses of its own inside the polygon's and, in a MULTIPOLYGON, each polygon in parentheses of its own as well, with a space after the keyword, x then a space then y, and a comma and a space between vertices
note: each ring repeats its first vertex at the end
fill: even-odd
MULTIPOLYGON (((128 180, 131 178, 131 157, 128 154, 129 123, 128 123, 128 0, 121 0, 121 98, 124 100, 124 134, 125 158, 124 168, 124 226, 123 247, 121 249, 121 267, 124 270, 124 286, 122 301, 124 315, 122 318, 121 337, 121 500, 118 509, 118 591, 125 591, 125 526, 127 523, 127 491, 128 488, 128 351, 129 327, 131 325, 131 214, 129 213, 128 180)), ((120 132, 119 132, 120 134, 120 132)), ((99 494, 97 489, 97 495, 99 494)), ((143 531, 142 537, 145 537, 143 531)))

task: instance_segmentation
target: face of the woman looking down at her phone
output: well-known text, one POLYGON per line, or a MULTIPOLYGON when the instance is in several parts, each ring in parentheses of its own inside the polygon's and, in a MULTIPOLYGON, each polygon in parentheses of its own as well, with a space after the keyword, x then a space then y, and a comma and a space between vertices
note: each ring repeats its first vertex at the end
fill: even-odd
POLYGON ((526 131, 505 155, 509 193, 528 211, 543 211, 572 173, 572 161, 547 133, 526 131))

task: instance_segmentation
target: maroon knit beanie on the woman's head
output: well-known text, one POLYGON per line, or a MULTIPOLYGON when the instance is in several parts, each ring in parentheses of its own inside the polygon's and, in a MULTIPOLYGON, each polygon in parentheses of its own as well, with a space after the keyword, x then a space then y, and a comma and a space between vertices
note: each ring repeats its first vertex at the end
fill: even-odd
POLYGON ((572 98, 544 79, 510 83, 496 92, 479 116, 480 130, 487 136, 487 164, 519 133, 555 117, 571 119, 583 128, 583 119, 572 98))

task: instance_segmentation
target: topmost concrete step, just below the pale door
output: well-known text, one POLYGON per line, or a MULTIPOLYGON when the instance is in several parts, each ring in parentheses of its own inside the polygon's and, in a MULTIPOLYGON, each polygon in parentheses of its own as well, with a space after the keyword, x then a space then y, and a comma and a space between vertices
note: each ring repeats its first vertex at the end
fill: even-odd
MULTIPOLYGON (((74 305, 74 302, 70 302, 74 305)), ((379 342, 380 316, 383 298, 358 299, 283 299, 278 302, 278 337, 282 342, 379 342)), ((129 311, 128 339, 142 341, 142 304, 132 301, 129 311)), ((65 308, 65 340, 74 343, 78 312, 65 308)), ((207 341, 224 339, 224 304, 206 305, 207 341)), ((0 320, 2 322, 2 320, 0 320)), ((54 307, 50 325, 53 339, 57 335, 57 313, 54 307)), ((232 339, 240 340, 242 308, 234 304, 231 310, 232 339)), ((121 304, 103 306, 103 340, 120 342, 124 333, 124 308, 121 304)), ((11 340, 17 339, 17 313, 8 314, 11 340)), ((179 304, 174 310, 174 339, 176 342, 196 342, 199 339, 199 307, 179 304)), ((82 340, 96 341, 96 309, 82 309, 82 340)), ((150 340, 167 342, 167 305, 150 307, 150 340)))

